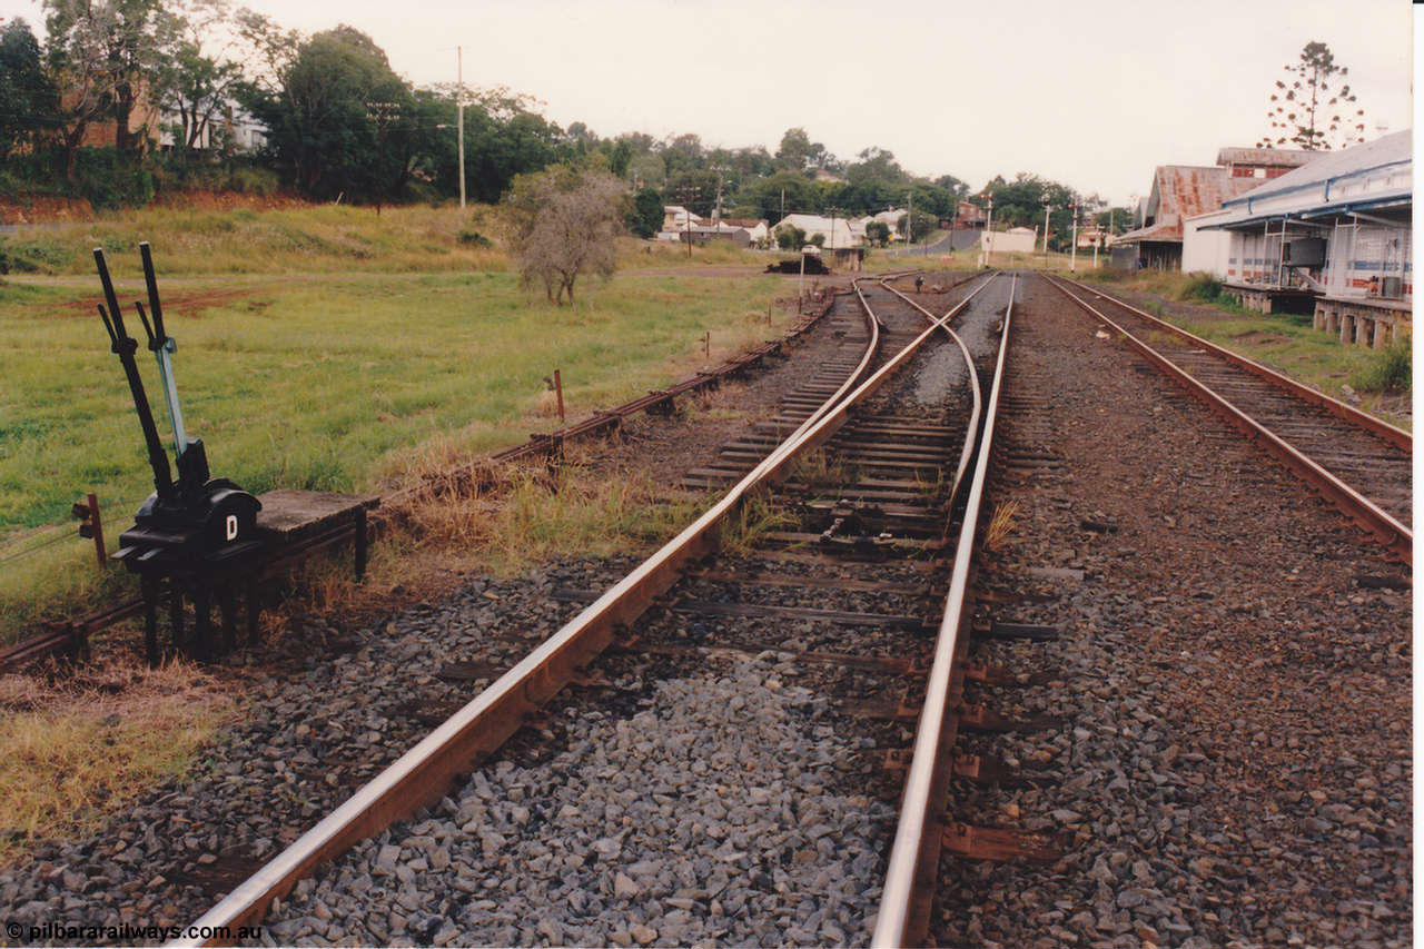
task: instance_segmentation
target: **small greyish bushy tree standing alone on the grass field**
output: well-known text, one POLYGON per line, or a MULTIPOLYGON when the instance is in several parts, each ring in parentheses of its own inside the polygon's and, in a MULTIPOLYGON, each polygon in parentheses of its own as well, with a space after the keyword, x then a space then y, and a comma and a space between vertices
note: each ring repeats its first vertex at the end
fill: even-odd
POLYGON ((520 281, 562 305, 581 275, 612 276, 627 201, 618 178, 567 164, 515 178, 506 218, 520 281))

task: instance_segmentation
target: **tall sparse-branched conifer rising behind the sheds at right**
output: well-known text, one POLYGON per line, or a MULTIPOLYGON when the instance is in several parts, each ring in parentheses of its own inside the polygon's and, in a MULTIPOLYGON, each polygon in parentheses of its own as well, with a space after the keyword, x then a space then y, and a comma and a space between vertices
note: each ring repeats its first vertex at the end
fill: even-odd
POLYGON ((1296 63, 1287 63, 1286 80, 1276 80, 1270 94, 1270 134, 1257 148, 1292 144, 1306 151, 1329 151, 1364 141, 1364 110, 1354 108, 1356 95, 1324 43, 1306 43, 1296 63))

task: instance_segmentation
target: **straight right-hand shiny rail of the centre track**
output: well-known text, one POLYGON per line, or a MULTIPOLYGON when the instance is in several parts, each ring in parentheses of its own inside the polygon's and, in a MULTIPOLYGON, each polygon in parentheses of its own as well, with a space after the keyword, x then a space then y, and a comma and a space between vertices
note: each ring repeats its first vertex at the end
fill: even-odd
POLYGON ((914 754, 906 774, 900 819, 887 861, 886 882, 880 893, 880 911, 871 946, 920 946, 926 943, 928 906, 940 859, 940 832, 944 799, 948 791, 947 752, 957 735, 957 721, 950 702, 954 698, 954 664, 968 640, 961 630, 970 607, 968 586, 974 561, 974 537, 978 514, 984 503, 984 483, 988 477, 994 447, 994 427, 998 416, 1004 365, 1014 316, 1015 276, 1010 284, 1008 309, 1000 333, 998 361, 994 385, 984 413, 984 432, 978 439, 978 459, 970 483, 954 550, 954 570, 944 598, 944 617, 934 643, 934 663, 926 684, 924 707, 914 734, 914 754))

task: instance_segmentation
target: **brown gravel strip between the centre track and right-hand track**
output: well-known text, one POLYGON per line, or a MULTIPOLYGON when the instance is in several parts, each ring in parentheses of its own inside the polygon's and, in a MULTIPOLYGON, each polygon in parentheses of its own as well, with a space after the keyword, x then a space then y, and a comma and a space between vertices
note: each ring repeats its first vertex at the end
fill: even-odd
POLYGON ((1408 571, 1042 282, 1015 306, 1011 452, 978 621, 1061 630, 973 658, 1055 730, 968 737, 1018 784, 975 825, 1067 834, 1051 865, 946 859, 941 945, 1408 945, 1408 571))

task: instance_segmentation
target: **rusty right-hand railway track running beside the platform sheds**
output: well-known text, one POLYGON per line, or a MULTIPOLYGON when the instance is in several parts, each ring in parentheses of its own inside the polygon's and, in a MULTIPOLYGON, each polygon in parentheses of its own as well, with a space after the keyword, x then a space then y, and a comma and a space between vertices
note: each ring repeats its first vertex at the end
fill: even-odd
POLYGON ((1413 561, 1413 437, 1099 291, 1045 278, 1284 462, 1401 561, 1413 561))

